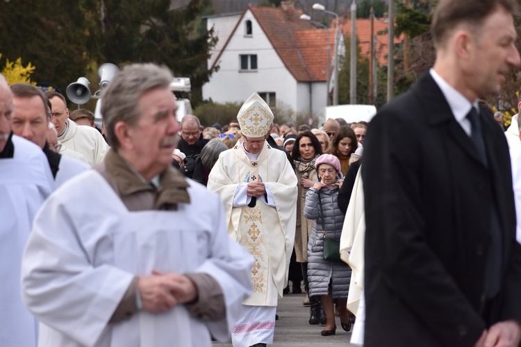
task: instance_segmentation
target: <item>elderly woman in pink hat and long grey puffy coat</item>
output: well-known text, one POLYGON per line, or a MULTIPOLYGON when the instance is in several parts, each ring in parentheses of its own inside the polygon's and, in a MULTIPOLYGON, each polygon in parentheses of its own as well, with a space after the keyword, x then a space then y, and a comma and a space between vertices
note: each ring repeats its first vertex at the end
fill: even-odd
POLYGON ((335 335, 336 323, 333 312, 333 298, 338 298, 342 329, 351 330, 347 313, 347 294, 351 268, 344 262, 324 260, 324 226, 328 239, 340 241, 345 215, 338 208, 338 180, 340 161, 335 155, 322 154, 315 161, 318 182, 308 190, 304 206, 304 217, 313 219, 313 227, 308 242, 308 282, 309 296, 320 296, 326 312, 327 323, 322 336, 335 335), (322 205, 322 212, 320 209, 322 205), (323 214, 323 220, 321 215, 323 214))

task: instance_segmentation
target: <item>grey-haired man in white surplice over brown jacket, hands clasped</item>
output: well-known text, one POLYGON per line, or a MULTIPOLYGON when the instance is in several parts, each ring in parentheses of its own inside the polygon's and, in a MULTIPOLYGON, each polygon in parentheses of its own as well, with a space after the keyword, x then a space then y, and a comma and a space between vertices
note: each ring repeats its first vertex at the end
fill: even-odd
POLYGON ((226 235, 219 197, 170 162, 172 74, 127 65, 104 90, 113 148, 49 197, 22 264, 39 346, 211 346, 251 293, 252 257, 226 235))

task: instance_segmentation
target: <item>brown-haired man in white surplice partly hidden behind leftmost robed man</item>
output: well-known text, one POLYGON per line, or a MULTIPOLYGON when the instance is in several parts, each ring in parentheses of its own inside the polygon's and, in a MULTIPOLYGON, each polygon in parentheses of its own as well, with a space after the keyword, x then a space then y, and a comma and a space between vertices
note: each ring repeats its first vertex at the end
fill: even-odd
POLYGON ((52 151, 47 143, 49 121, 53 115, 49 112, 47 98, 33 85, 16 83, 13 91, 13 117, 11 128, 13 133, 37 144, 47 157, 56 187, 65 181, 81 174, 89 166, 79 160, 65 157, 52 151))

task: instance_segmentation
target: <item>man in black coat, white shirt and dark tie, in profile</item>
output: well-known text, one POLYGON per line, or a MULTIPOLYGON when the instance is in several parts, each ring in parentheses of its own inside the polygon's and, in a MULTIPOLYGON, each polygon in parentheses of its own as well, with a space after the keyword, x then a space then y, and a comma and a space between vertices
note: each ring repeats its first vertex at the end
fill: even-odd
POLYGON ((515 10, 514 0, 440 0, 433 69, 371 121, 366 347, 519 344, 508 146, 477 108, 520 65, 515 10))

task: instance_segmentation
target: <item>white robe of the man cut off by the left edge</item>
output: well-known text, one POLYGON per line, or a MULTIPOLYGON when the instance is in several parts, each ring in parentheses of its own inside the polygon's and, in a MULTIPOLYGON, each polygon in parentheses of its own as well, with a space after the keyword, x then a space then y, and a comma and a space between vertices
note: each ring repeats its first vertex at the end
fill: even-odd
POLYGON ((22 302, 20 266, 31 223, 54 180, 40 147, 13 135, 13 158, 0 159, 0 346, 36 346, 38 323, 22 302))

